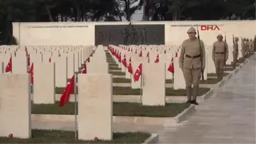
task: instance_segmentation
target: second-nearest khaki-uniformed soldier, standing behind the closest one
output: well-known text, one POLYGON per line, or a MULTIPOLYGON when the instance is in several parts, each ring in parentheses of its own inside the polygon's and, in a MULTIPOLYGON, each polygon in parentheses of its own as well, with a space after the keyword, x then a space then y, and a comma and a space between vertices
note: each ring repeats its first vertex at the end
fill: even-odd
POLYGON ((217 79, 223 78, 225 61, 229 58, 227 43, 223 41, 221 34, 217 35, 218 41, 213 43, 212 57, 215 64, 217 79))

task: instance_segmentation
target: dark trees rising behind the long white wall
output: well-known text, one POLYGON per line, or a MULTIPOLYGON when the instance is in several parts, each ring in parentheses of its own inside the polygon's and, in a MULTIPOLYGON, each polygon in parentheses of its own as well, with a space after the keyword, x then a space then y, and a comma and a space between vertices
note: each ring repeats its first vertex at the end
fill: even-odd
POLYGON ((256 0, 0 0, 0 45, 10 43, 11 22, 255 19, 256 0), (145 5, 144 5, 145 2, 145 5))

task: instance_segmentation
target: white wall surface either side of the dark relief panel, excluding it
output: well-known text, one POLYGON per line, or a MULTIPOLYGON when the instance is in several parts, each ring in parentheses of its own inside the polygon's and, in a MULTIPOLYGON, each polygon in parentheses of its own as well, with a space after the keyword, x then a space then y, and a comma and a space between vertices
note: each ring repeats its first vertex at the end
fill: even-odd
MULTIPOLYGON (((128 25, 129 22, 13 23, 19 45, 95 45, 95 25, 128 25)), ((231 45, 232 35, 253 38, 256 21, 147 21, 134 25, 165 24, 165 45, 181 45, 187 29, 199 25, 200 38, 212 45, 221 33, 231 45)))

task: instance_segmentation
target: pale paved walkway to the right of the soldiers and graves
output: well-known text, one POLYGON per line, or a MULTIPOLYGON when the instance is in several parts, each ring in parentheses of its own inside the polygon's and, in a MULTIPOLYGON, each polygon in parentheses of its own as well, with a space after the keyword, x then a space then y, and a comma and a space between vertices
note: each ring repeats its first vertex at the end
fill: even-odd
POLYGON ((165 127, 161 144, 255 144, 256 55, 215 97, 199 103, 189 121, 165 127))

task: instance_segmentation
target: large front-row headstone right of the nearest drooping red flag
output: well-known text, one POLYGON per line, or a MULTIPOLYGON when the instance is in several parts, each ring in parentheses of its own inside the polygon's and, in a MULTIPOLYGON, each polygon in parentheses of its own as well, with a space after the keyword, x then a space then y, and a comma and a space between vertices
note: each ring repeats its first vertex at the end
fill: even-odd
POLYGON ((112 75, 79 74, 78 79, 78 138, 93 140, 98 137, 111 140, 112 75))

